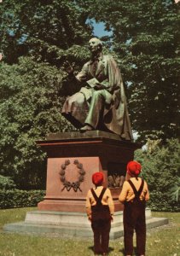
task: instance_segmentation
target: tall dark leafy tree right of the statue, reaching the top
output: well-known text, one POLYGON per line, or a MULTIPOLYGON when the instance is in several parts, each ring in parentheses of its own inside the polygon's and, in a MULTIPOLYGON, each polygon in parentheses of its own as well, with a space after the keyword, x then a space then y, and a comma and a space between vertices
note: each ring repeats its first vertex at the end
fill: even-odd
POLYGON ((112 30, 139 140, 179 135, 179 4, 174 0, 78 1, 112 30))

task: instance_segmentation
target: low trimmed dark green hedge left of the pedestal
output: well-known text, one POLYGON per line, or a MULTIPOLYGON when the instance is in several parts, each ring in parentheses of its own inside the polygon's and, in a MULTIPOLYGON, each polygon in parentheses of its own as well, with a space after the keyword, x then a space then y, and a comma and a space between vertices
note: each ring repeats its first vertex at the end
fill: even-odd
POLYGON ((44 190, 0 189, 0 209, 36 207, 44 199, 44 190))

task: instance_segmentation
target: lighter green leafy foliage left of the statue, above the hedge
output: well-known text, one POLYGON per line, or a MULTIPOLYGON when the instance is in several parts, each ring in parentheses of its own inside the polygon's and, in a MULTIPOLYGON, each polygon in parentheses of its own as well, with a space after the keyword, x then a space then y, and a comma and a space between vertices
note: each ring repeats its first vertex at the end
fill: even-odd
POLYGON ((0 173, 13 177, 21 189, 44 188, 45 155, 36 140, 73 129, 61 116, 64 73, 31 58, 3 64, 1 71, 0 173))

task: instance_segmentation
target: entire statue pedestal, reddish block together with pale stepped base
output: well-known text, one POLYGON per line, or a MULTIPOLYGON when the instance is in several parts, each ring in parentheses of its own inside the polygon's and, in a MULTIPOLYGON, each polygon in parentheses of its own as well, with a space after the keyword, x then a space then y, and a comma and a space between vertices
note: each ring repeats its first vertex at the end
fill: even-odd
MULTIPOLYGON (((105 186, 109 175, 125 176, 127 162, 133 160, 138 145, 120 141, 119 136, 103 131, 50 134, 38 145, 47 152, 44 201, 38 203, 38 211, 26 212, 25 222, 6 224, 3 230, 92 238, 85 213, 85 197, 93 187, 92 173, 103 172, 105 186)), ((110 238, 115 239, 123 236, 123 206, 118 201, 120 188, 112 188, 111 192, 115 213, 110 238)), ((168 220, 152 218, 147 210, 146 222, 149 229, 167 224, 168 220)))

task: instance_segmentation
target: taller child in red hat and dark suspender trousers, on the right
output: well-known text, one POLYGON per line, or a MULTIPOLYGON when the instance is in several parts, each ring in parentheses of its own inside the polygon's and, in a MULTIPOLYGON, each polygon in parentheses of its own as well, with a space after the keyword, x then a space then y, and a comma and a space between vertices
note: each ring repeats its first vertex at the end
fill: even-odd
POLYGON ((148 185, 146 181, 138 177, 142 166, 136 161, 127 164, 127 174, 130 179, 123 184, 119 195, 119 201, 124 203, 124 243, 125 255, 133 253, 133 233, 136 231, 136 252, 140 256, 145 255, 146 245, 146 218, 145 206, 149 199, 148 185))

